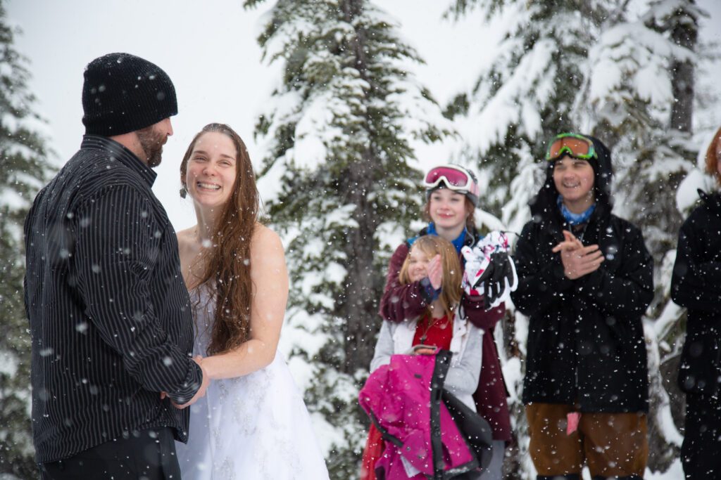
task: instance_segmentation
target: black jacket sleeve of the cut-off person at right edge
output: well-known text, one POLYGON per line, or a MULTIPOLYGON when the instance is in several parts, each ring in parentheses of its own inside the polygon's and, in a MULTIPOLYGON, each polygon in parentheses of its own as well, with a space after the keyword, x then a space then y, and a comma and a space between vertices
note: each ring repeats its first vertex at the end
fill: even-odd
MULTIPOLYGON (((692 214, 693 215, 693 214, 692 214)), ((671 298, 681 307, 721 312, 721 261, 703 258, 704 238, 686 220, 678 233, 676 263, 671 276, 671 298)))

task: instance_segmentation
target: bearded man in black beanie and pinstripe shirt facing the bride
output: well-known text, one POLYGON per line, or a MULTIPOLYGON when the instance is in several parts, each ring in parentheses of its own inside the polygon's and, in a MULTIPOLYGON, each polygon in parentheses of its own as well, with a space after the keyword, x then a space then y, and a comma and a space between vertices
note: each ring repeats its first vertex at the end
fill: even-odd
POLYGON ((44 479, 179 479, 174 440, 208 376, 151 191, 175 89, 157 65, 111 53, 87 65, 82 101, 80 150, 25 220, 35 458, 44 479))

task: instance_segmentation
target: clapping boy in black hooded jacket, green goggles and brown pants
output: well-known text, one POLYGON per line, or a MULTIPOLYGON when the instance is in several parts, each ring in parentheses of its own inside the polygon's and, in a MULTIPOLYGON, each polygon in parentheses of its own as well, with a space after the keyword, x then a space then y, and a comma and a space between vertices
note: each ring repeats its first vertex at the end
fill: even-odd
POLYGON ((513 303, 530 317, 523 402, 539 479, 640 479, 648 379, 641 317, 653 259, 611 214, 611 153, 587 135, 549 145, 547 180, 516 246, 513 303))

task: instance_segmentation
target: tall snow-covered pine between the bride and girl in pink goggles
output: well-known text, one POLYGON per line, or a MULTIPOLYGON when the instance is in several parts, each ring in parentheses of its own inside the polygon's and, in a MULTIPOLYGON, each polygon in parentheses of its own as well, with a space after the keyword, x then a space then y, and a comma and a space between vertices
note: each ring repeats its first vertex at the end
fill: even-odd
POLYGON ((259 38, 283 67, 256 130, 267 152, 259 186, 291 274, 281 343, 337 479, 358 474, 367 422, 357 396, 385 268, 420 212, 410 142, 449 132, 407 75, 420 59, 396 31, 368 0, 286 0, 259 38))

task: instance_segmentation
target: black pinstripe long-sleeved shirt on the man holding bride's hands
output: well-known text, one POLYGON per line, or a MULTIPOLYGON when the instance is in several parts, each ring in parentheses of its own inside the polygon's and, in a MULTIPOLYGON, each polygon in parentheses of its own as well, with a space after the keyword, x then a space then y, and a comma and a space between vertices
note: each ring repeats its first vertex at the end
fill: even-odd
POLYGON ((32 433, 39 462, 144 428, 187 438, 200 386, 177 240, 130 150, 86 135, 25 220, 32 433))

